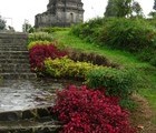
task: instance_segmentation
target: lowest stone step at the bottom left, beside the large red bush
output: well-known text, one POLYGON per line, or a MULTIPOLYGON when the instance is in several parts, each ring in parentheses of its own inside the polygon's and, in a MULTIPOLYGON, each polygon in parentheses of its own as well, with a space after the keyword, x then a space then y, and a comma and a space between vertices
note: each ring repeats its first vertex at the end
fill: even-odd
POLYGON ((0 133, 58 133, 61 125, 53 120, 0 122, 0 133))

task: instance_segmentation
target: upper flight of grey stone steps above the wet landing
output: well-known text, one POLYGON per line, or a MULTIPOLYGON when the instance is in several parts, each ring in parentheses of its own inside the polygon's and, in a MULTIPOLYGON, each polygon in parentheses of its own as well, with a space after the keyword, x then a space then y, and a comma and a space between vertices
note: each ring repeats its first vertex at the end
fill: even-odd
POLYGON ((26 33, 0 33, 0 75, 3 79, 35 79, 30 71, 26 33))

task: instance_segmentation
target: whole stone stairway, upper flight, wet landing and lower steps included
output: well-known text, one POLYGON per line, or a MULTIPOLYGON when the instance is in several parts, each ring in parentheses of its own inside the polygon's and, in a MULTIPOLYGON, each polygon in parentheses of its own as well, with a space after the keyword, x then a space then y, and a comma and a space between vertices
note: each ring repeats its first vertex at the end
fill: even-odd
POLYGON ((0 33, 0 133, 58 133, 49 112, 62 82, 37 79, 30 71, 26 33, 0 33))

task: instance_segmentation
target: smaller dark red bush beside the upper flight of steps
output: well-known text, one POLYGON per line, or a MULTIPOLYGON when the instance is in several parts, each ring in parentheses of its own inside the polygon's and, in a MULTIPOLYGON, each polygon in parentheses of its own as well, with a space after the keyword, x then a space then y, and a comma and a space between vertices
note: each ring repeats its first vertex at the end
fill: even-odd
POLYGON ((65 57, 66 51, 59 50, 53 44, 39 44, 29 50, 30 64, 32 70, 43 70, 43 61, 47 58, 56 59, 65 57))

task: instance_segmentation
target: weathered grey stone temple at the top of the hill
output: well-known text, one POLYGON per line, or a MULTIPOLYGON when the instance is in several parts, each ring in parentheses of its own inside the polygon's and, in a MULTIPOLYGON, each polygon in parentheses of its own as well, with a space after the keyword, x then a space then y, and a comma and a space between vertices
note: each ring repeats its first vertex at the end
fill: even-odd
POLYGON ((35 27, 70 27, 84 21, 81 0, 49 0, 47 11, 35 19, 35 27))

